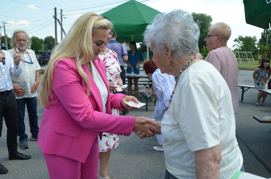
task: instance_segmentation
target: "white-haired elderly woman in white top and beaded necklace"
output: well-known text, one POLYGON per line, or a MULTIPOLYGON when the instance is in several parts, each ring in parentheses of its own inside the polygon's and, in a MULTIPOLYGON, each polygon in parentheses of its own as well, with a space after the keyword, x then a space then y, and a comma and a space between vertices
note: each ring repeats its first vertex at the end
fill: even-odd
POLYGON ((198 25, 182 10, 156 15, 144 33, 161 73, 176 76, 163 120, 141 121, 164 137, 167 179, 231 178, 242 168, 230 90, 213 65, 195 57, 198 37, 198 25))

